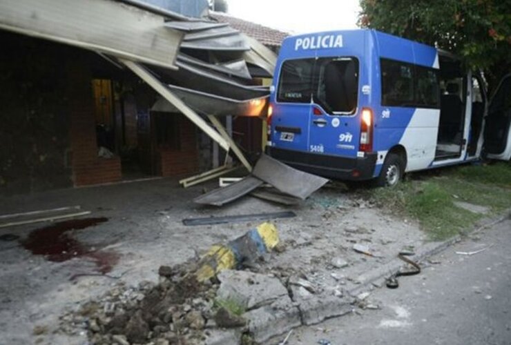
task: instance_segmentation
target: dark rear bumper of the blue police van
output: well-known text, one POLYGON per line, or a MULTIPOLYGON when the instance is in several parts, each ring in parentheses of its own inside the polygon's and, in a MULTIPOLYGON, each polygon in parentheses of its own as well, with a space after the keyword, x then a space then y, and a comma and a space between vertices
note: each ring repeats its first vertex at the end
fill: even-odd
POLYGON ((331 179, 349 181, 372 179, 377 159, 376 152, 366 153, 363 158, 318 155, 317 153, 284 150, 271 146, 267 146, 266 152, 271 157, 298 170, 331 179))

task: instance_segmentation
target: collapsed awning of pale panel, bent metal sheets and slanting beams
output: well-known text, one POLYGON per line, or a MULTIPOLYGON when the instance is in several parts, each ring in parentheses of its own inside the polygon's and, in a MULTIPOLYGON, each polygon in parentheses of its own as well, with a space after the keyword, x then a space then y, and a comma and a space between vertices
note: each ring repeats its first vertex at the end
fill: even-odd
MULTIPOLYGON (((220 147, 251 164, 215 116, 260 116, 276 55, 225 23, 192 19, 139 0, 0 0, 0 29, 98 52, 126 66, 220 147)), ((171 116, 171 115, 169 115, 171 116)))

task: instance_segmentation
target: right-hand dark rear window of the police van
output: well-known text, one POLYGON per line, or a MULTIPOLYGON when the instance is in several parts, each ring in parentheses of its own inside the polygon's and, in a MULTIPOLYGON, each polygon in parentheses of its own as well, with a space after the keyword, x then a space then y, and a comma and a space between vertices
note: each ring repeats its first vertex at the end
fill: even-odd
POLYGON ((358 95, 358 60, 323 59, 318 63, 319 83, 314 100, 328 112, 355 112, 358 95))

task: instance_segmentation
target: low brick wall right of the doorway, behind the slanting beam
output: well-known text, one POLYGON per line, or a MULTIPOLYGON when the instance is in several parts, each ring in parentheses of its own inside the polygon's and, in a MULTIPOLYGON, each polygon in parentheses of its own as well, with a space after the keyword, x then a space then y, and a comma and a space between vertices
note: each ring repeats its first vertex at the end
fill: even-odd
POLYGON ((197 172, 199 168, 197 135, 195 125, 183 115, 177 116, 180 135, 179 148, 158 148, 160 158, 160 174, 164 177, 179 175, 190 175, 197 172))

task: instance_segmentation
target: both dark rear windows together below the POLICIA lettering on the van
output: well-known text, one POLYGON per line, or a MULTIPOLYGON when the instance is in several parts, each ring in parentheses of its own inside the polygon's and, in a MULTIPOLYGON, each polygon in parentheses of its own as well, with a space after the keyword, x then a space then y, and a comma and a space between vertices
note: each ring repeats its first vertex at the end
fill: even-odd
POLYGON ((297 59, 282 64, 277 101, 318 103, 330 114, 353 114, 358 98, 358 59, 297 59))

